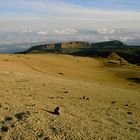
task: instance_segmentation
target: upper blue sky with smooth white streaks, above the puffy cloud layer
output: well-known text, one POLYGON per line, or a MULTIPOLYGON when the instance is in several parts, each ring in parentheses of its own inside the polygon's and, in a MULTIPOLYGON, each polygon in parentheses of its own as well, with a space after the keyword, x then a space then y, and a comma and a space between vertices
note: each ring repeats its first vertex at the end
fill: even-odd
POLYGON ((139 25, 140 0, 0 0, 0 31, 139 25))

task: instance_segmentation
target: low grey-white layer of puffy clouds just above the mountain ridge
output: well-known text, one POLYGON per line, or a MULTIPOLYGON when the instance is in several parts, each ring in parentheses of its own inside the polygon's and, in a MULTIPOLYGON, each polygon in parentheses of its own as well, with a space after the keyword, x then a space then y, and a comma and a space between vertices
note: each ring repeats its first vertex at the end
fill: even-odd
POLYGON ((61 29, 0 33, 0 46, 9 44, 49 43, 62 41, 99 42, 120 40, 130 44, 140 44, 140 30, 132 29, 61 29))

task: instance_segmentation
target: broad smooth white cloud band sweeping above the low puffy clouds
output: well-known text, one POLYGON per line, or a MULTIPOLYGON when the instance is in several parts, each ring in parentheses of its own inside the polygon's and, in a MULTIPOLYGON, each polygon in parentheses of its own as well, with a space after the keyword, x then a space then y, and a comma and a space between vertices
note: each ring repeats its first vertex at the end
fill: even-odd
POLYGON ((45 2, 17 0, 15 5, 12 2, 10 4, 11 6, 27 9, 27 13, 16 13, 13 16, 7 15, 7 17, 0 14, 0 30, 140 28, 139 11, 95 9, 58 0, 47 0, 45 2))

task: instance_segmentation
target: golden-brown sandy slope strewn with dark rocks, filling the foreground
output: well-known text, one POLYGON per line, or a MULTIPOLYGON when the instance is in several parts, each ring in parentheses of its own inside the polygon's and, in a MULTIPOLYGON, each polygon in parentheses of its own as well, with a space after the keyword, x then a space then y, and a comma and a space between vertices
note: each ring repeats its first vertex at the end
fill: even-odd
POLYGON ((92 58, 0 55, 0 137, 139 140, 140 85, 126 79, 136 77, 138 67, 92 58))

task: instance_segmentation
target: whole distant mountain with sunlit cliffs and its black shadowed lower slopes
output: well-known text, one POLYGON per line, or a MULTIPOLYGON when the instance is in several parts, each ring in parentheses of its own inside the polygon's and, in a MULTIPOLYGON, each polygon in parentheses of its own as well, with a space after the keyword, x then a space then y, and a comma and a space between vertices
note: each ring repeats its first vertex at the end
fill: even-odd
POLYGON ((76 56, 108 58, 109 54, 112 52, 116 53, 129 63, 140 65, 140 46, 126 45, 118 40, 99 43, 71 41, 43 44, 32 46, 28 50, 19 53, 61 53, 76 56))

